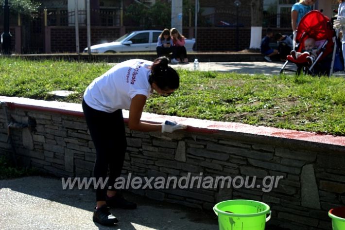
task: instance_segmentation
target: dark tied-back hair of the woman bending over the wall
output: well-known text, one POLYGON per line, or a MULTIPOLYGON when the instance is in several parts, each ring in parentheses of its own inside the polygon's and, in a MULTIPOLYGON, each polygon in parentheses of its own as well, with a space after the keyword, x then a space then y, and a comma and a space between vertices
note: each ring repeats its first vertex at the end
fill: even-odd
POLYGON ((161 56, 155 59, 154 63, 149 67, 151 74, 149 83, 155 83, 162 90, 176 89, 180 85, 180 77, 178 73, 168 66, 169 59, 161 56))

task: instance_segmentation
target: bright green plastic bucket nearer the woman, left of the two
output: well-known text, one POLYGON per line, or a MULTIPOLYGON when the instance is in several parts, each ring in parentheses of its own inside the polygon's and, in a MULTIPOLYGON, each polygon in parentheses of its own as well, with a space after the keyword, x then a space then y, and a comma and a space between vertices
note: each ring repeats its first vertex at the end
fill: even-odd
POLYGON ((218 215, 219 230, 264 230, 271 219, 270 206, 255 200, 226 200, 213 211, 218 215))

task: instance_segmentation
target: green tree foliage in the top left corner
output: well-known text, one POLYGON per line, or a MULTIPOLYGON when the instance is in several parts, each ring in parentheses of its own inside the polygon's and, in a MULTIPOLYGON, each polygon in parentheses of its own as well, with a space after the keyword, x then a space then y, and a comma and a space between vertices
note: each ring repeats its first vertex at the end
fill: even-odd
MULTIPOLYGON (((0 0, 0 14, 3 12, 3 4, 5 0, 0 0)), ((35 18, 38 8, 41 3, 35 0, 9 0, 11 14, 17 15, 18 13, 25 16, 35 18)))

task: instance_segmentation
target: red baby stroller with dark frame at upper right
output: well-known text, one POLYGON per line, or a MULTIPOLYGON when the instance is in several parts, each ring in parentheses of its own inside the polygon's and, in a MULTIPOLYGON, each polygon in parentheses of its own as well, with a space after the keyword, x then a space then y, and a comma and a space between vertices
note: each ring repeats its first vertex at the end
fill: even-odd
POLYGON ((287 61, 284 63, 280 73, 284 71, 296 72, 299 75, 301 72, 311 75, 330 75, 333 69, 335 53, 335 32, 332 28, 330 20, 320 11, 313 10, 306 14, 298 24, 296 34, 296 52, 304 50, 304 41, 307 38, 313 38, 316 44, 319 45, 319 52, 310 65, 305 59, 294 59, 291 55, 287 56, 287 61), (297 70, 289 70, 286 68, 287 64, 292 62, 296 64, 297 70))

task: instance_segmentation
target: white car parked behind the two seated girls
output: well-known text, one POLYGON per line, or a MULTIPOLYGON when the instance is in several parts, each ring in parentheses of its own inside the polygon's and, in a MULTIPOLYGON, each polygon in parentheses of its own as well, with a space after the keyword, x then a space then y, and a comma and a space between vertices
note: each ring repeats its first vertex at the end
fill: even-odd
MULTIPOLYGON (((150 52, 156 51, 160 30, 142 30, 127 33, 113 42, 91 46, 91 53, 150 52)), ((195 39, 186 39, 187 52, 193 51, 195 39)), ((87 53, 87 47, 84 49, 87 53)))

